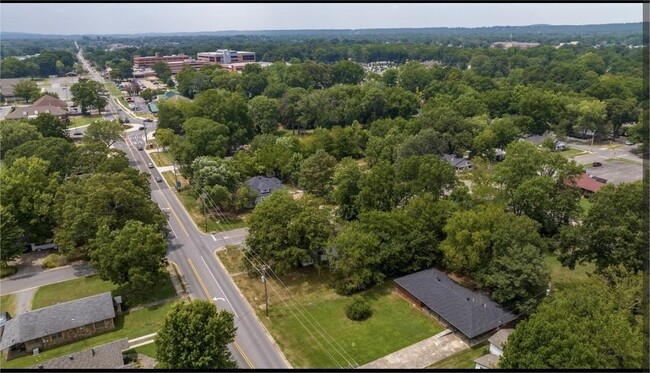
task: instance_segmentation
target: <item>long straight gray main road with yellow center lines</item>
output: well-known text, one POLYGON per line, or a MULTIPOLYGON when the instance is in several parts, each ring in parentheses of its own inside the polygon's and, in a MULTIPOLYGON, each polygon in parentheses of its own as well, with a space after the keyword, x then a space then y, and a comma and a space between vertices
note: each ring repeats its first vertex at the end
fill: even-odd
MULTIPOLYGON (((103 79, 90 69, 86 61, 84 65, 94 79, 103 82, 103 79)), ((124 111, 118 112, 117 104, 113 100, 110 101, 109 110, 127 115, 124 111)), ((129 119, 131 123, 138 123, 136 118, 129 117, 129 119)), ((140 120, 139 123, 142 121, 140 120)), ((125 140, 116 143, 115 147, 125 151, 132 167, 152 174, 151 198, 161 208, 170 209, 168 224, 172 232, 169 239, 168 259, 179 267, 188 285, 188 291, 195 298, 213 300, 218 308, 226 309, 235 315, 237 336, 230 350, 240 367, 286 369, 288 363, 282 353, 214 254, 217 248, 226 244, 243 242, 246 231, 239 229, 212 235, 199 231, 174 191, 165 182, 155 182, 155 176, 159 173, 156 168, 147 168, 146 165, 152 161, 146 151, 137 150, 137 146, 132 141, 132 136, 136 136, 133 132, 133 130, 127 131, 125 140)))

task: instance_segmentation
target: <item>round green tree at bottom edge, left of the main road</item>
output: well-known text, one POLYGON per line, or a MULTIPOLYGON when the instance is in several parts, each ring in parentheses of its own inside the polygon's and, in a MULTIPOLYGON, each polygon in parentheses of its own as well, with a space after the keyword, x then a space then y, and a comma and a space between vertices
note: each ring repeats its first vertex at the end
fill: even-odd
POLYGON ((234 369, 228 344, 235 340, 234 316, 211 301, 177 301, 155 338, 156 358, 165 369, 234 369))

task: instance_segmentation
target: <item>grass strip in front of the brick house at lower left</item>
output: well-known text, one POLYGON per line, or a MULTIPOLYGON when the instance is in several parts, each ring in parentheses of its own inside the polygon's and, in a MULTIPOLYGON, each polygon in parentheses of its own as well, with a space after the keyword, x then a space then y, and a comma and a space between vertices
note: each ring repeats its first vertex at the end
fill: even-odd
MULTIPOLYGON (((115 330, 83 339, 71 344, 43 351, 38 356, 23 356, 17 359, 2 361, 3 369, 27 368, 39 362, 65 356, 73 352, 89 349, 121 338, 137 338, 158 331, 162 320, 171 309, 173 302, 167 302, 153 307, 139 309, 115 318, 115 330)), ((144 346, 143 346, 144 347, 144 346)))

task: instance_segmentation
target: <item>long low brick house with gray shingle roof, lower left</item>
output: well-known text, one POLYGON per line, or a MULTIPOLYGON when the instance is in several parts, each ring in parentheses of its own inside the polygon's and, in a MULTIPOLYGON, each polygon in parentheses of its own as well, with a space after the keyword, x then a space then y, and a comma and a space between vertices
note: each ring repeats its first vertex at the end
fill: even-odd
POLYGON ((0 350, 9 360, 88 338, 113 330, 121 312, 107 292, 22 313, 5 324, 0 350))

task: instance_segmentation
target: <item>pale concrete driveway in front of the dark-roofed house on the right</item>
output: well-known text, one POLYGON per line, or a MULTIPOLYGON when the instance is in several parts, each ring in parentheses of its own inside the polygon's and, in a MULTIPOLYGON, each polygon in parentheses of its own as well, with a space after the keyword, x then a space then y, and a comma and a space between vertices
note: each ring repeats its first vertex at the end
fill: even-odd
POLYGON ((386 355, 361 369, 423 369, 448 356, 469 348, 449 329, 386 355))

